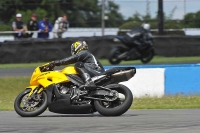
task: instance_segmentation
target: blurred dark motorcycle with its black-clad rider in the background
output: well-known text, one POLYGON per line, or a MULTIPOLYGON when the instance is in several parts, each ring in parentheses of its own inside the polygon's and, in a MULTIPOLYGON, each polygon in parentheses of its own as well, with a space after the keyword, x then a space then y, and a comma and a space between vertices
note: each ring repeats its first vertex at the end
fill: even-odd
POLYGON ((155 55, 153 36, 142 27, 133 28, 125 36, 116 36, 115 39, 122 42, 125 47, 119 46, 110 51, 108 60, 113 65, 119 64, 122 60, 141 60, 142 63, 148 63, 155 55))

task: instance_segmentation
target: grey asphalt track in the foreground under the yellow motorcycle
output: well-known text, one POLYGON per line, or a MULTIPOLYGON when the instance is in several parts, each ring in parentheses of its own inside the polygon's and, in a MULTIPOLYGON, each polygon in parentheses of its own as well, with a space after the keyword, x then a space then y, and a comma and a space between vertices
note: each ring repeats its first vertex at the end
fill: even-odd
POLYGON ((199 133, 200 109, 129 110, 119 117, 98 113, 60 115, 46 111, 22 118, 0 111, 0 132, 9 133, 199 133))

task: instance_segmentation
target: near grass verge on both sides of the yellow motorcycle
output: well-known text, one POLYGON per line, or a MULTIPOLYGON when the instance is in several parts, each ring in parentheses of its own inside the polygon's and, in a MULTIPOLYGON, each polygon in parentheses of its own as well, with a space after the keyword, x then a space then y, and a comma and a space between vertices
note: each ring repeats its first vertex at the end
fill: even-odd
MULTIPOLYGON (((29 85, 30 77, 0 78, 0 110, 13 110, 17 95, 29 85)), ((200 108, 200 96, 165 96, 134 98, 131 109, 200 108)))

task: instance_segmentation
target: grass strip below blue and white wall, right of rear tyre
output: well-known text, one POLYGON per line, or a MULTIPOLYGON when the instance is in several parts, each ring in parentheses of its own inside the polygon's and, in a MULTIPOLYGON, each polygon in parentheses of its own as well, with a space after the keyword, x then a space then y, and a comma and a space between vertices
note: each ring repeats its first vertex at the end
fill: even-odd
POLYGON ((131 109, 189 109, 200 108, 200 95, 135 98, 131 109))

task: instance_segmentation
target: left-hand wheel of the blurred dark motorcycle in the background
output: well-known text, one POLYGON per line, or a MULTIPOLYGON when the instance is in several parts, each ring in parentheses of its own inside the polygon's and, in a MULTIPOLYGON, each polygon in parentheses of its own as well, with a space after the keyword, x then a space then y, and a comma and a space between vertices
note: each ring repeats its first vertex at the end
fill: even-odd
POLYGON ((110 51, 108 60, 110 64, 117 65, 121 62, 121 59, 118 59, 117 57, 122 53, 122 50, 120 48, 114 48, 110 51))

